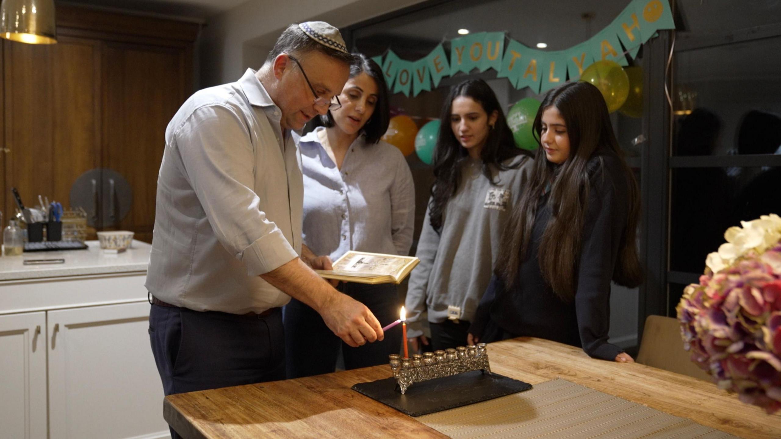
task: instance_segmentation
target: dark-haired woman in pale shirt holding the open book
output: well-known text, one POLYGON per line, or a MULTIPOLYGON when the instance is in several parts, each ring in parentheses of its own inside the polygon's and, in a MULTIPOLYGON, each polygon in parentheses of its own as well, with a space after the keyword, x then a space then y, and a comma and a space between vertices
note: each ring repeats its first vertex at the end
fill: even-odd
MULTIPOLYGON (((304 244, 332 261, 349 250, 408 255, 415 218, 412 173, 398 148, 380 141, 389 112, 382 69, 354 56, 341 108, 299 141, 304 244)), ((380 322, 398 319, 395 284, 344 283, 339 290, 363 302, 380 322)), ((284 327, 289 378, 333 372, 340 347, 347 369, 387 362, 401 347, 401 331, 395 330, 380 343, 348 348, 317 312, 295 299, 285 306, 284 327)))

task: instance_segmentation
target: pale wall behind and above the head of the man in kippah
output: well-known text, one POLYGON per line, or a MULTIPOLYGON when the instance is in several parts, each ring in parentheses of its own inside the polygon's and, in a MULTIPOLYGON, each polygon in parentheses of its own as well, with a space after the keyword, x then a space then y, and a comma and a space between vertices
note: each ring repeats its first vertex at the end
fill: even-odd
POLYGON ((346 27, 423 0, 250 0, 207 20, 201 37, 200 87, 237 80, 262 65, 291 23, 323 20, 346 27))

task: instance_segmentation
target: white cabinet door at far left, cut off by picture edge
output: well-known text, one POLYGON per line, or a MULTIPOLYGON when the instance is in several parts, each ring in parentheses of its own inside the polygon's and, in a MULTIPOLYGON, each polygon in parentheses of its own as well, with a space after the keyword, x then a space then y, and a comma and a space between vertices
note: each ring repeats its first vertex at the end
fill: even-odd
POLYGON ((0 316, 0 437, 46 439, 46 313, 0 316))

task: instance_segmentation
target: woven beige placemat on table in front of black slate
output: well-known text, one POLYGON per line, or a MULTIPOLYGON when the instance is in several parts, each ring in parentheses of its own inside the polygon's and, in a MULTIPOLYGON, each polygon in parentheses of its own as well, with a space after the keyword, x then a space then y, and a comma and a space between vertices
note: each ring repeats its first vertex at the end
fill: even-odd
POLYGON ((450 437, 735 437, 567 380, 415 418, 450 437))

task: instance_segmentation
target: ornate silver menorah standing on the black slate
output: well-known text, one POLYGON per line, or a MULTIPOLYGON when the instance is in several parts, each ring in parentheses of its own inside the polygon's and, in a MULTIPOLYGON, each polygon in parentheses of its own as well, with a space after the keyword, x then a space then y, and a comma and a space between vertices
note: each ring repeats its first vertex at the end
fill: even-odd
POLYGON ((482 370, 490 373, 488 350, 485 343, 444 351, 425 352, 423 355, 413 354, 412 359, 402 359, 401 355, 388 355, 391 359, 391 370, 396 379, 401 394, 404 394, 413 383, 433 380, 434 378, 450 377, 457 373, 482 370))

